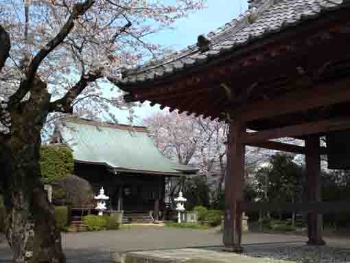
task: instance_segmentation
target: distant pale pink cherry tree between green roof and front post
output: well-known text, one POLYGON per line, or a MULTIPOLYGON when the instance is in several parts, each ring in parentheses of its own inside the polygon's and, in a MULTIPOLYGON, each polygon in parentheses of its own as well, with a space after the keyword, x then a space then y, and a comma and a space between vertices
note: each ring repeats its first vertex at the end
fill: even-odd
MULTIPOLYGON (((220 174, 217 189, 211 193, 213 199, 220 195, 229 165, 226 148, 228 124, 179 115, 176 111, 155 113, 143 119, 143 124, 148 126, 154 144, 170 159, 183 164, 193 163, 205 176, 220 174)), ((246 168, 252 168, 272 154, 270 150, 246 147, 246 168)), ((178 187, 183 187, 184 180, 172 184, 172 194, 176 194, 178 187)))

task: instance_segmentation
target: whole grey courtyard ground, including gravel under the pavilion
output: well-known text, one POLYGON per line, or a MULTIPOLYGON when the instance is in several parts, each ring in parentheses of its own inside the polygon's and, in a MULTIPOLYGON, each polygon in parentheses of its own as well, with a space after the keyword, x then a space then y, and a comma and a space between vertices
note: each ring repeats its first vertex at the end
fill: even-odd
MULTIPOLYGON (((3 240, 3 236, 0 234, 0 263, 10 263, 10 249, 7 242, 1 242, 1 240, 3 240)), ((265 233, 244 233, 242 237, 243 244, 247 244, 244 246, 244 255, 248 256, 300 263, 350 263, 349 239, 325 240, 329 246, 343 247, 344 249, 307 247, 304 245, 306 240, 305 237, 265 233), (266 242, 270 244, 260 244, 266 242)), ((218 231, 167 227, 132 227, 119 231, 62 235, 62 245, 67 255, 67 263, 109 263, 112 251, 213 247, 221 244, 222 233, 218 233, 218 231)))

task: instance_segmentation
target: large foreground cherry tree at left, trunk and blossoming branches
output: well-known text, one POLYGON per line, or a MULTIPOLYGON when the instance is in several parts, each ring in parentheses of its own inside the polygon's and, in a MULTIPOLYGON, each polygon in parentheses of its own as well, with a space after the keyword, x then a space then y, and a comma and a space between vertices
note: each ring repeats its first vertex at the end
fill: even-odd
POLYGON ((106 96, 116 93, 109 77, 164 54, 150 35, 202 6, 202 0, 0 0, 0 184, 13 262, 38 262, 40 254, 65 262, 38 165, 47 116, 82 103, 106 112, 123 108, 118 96, 106 96))

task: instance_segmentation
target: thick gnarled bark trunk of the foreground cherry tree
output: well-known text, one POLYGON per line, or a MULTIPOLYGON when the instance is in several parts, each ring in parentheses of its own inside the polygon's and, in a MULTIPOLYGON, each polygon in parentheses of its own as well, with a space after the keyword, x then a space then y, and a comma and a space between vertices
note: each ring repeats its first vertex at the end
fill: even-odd
POLYGON ((46 85, 34 80, 30 98, 10 108, 11 135, 5 141, 5 230, 12 262, 64 263, 60 231, 55 227, 54 206, 49 203, 40 174, 40 130, 48 113, 46 85))

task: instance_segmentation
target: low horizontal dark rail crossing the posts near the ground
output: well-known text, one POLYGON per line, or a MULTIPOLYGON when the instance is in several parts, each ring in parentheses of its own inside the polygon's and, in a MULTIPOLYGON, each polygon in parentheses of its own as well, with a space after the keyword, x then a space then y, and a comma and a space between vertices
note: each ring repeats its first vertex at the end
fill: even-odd
POLYGON ((304 211, 316 214, 350 211, 349 201, 341 202, 315 202, 315 203, 242 203, 243 211, 304 211))

